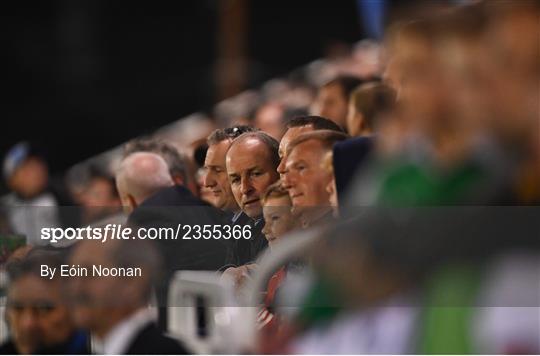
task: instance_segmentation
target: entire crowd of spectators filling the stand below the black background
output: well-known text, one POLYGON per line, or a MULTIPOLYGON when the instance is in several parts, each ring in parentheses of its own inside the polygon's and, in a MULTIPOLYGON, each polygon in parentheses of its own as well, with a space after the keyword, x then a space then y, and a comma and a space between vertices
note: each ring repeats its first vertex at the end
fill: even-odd
POLYGON ((194 352, 167 335, 174 272, 214 272, 241 300, 261 259, 290 253, 255 291, 256 339, 236 352, 540 353, 539 17, 537 1, 486 1, 397 23, 378 65, 318 63, 307 71, 332 78, 223 102, 225 125, 202 141, 129 142, 114 177, 92 169, 70 186, 82 209, 62 210, 44 159, 16 145, 0 351, 194 352), (40 227, 75 223, 210 226, 212 238, 43 246, 40 227), (215 238, 225 226, 249 238, 215 238), (62 264, 144 273, 40 274, 62 264))

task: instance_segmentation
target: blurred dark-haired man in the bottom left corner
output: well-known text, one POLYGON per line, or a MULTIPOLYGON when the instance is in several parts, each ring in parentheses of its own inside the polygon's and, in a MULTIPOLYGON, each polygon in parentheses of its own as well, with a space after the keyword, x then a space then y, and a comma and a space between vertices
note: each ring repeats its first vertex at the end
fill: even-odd
POLYGON ((6 321, 11 338, 2 354, 88 354, 90 340, 73 322, 62 277, 42 277, 42 266, 59 270, 61 252, 34 248, 8 264, 6 321))

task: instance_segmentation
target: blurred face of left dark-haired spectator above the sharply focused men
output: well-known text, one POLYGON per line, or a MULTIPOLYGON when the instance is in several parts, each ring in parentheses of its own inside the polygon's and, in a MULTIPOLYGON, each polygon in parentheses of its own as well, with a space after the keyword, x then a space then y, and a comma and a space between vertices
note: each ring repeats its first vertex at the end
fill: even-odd
POLYGON ((362 80, 351 76, 339 76, 324 84, 314 103, 314 114, 326 117, 342 128, 347 126, 347 111, 351 92, 362 80))

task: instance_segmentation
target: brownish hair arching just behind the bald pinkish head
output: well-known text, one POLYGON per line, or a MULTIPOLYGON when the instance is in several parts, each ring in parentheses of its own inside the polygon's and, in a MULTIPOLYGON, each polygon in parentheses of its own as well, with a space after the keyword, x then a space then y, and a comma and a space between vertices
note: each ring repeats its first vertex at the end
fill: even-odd
POLYGON ((188 162, 186 157, 178 150, 163 141, 151 138, 136 138, 124 146, 123 158, 135 152, 152 152, 165 160, 172 177, 180 177, 184 184, 190 181, 188 174, 188 162))

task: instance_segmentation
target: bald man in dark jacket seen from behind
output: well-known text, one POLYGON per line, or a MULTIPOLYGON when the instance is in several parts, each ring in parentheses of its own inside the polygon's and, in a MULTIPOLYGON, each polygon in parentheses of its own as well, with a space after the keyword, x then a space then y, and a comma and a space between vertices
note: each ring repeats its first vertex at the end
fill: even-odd
POLYGON ((176 270, 217 271, 226 262, 225 240, 191 239, 191 229, 205 225, 221 226, 223 213, 194 196, 183 185, 174 184, 167 164, 155 153, 136 152, 127 156, 117 173, 118 190, 131 208, 128 224, 133 228, 172 229, 182 236, 176 240, 159 239, 156 244, 164 259, 165 278, 158 286, 160 326, 166 327, 168 282, 176 270))

